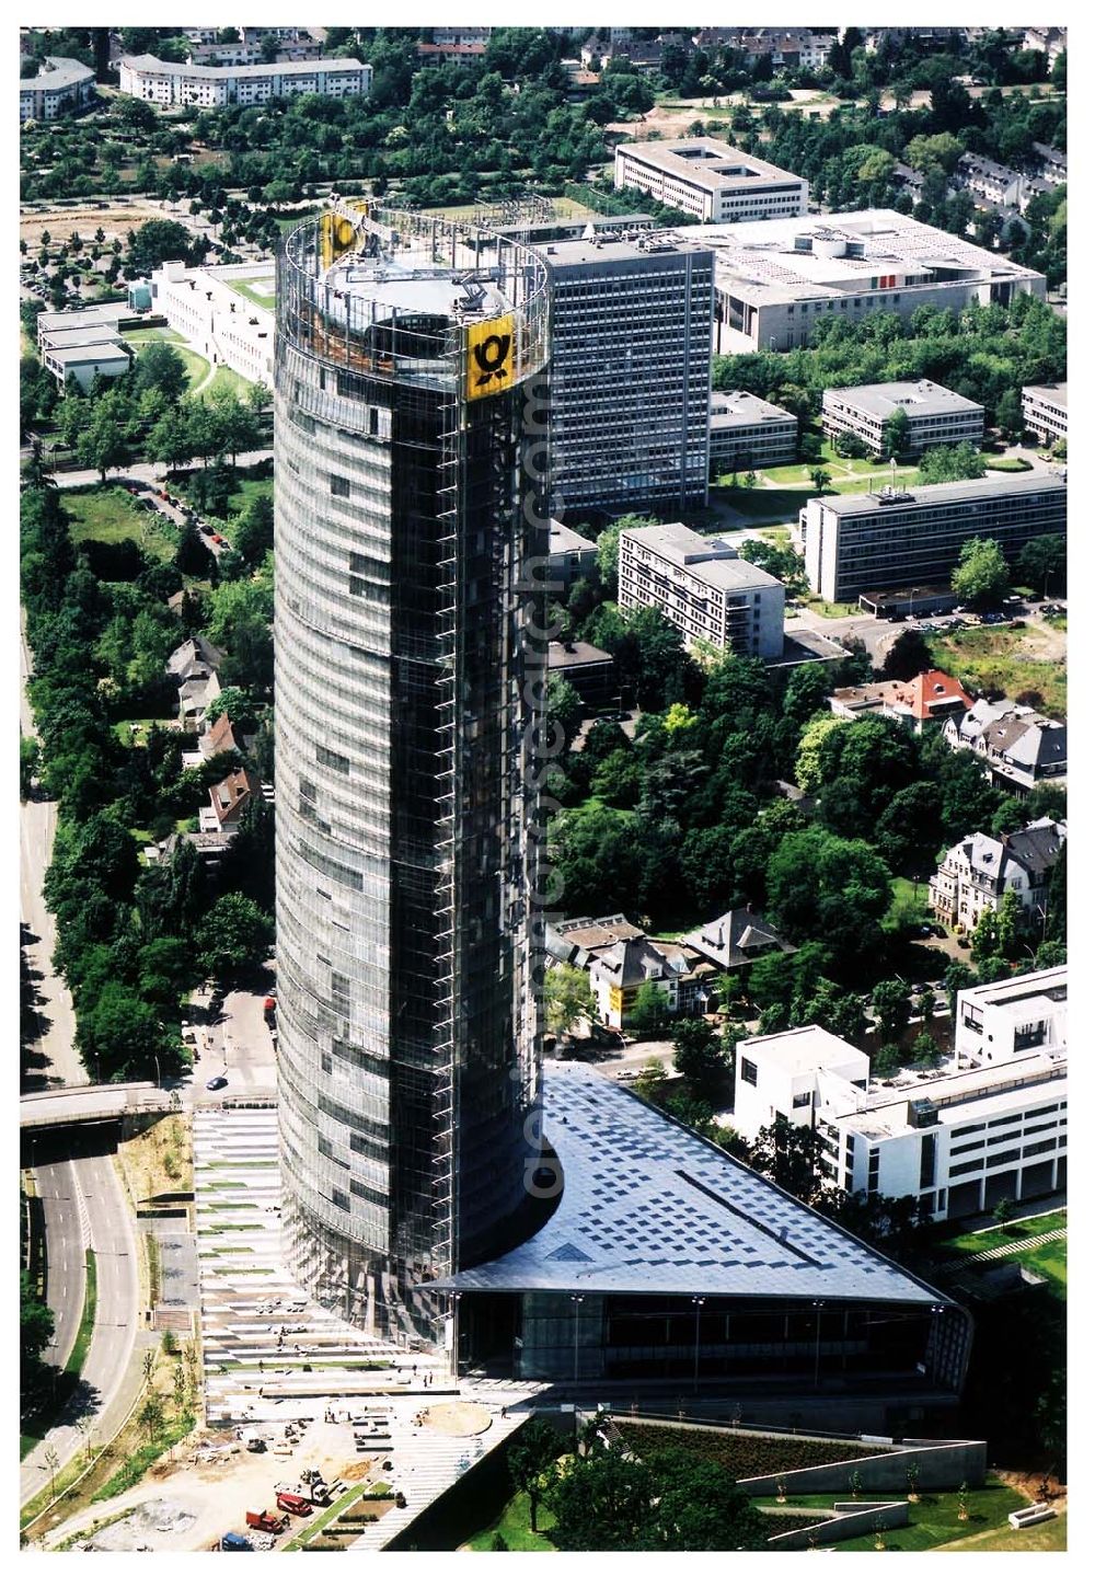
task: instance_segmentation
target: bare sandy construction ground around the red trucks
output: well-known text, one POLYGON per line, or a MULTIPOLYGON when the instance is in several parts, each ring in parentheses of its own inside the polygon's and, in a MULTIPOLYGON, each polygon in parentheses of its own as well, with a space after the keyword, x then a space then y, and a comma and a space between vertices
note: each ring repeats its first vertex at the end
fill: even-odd
MULTIPOLYGON (((266 1433, 273 1439, 274 1426, 266 1433)), ((366 1464, 383 1477, 383 1456, 354 1456, 353 1429, 347 1423, 309 1425, 290 1456, 276 1456, 269 1450, 251 1455, 239 1445, 238 1455, 202 1466, 191 1463, 197 1437, 213 1444, 236 1444, 230 1431, 192 1434, 184 1445, 175 1447, 173 1459, 164 1458, 151 1467, 137 1488, 95 1505, 58 1527, 50 1544, 68 1541, 74 1532, 87 1530, 91 1537, 90 1529, 96 1521, 115 1516, 120 1510, 132 1510, 134 1515, 95 1537, 96 1549, 134 1551, 153 1543, 158 1552, 192 1554, 211 1548, 225 1532, 246 1532, 246 1511, 274 1510, 274 1483, 296 1483, 304 1467, 318 1467, 328 1483, 339 1477, 361 1481, 367 1475, 366 1464), (353 1475, 345 1469, 351 1469, 353 1475)), ((306 1522, 290 1518, 285 1537, 293 1537, 301 1526, 306 1522)))

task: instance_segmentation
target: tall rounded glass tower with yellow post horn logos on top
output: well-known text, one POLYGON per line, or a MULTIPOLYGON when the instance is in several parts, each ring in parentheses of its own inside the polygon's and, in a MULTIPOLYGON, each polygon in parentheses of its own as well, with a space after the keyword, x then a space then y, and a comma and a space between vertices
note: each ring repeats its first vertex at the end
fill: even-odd
POLYGON ((279 1121, 301 1281, 440 1338, 422 1283, 526 1228, 544 265, 340 205, 279 258, 279 1121), (537 381, 539 380, 539 381, 537 381))

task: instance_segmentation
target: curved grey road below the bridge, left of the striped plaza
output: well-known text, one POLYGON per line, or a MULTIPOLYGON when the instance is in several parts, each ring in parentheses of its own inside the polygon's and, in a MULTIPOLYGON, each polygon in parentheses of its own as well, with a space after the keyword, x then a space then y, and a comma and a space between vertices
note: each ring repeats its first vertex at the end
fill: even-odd
MULTIPOLYGON (((74 1147, 82 1150, 79 1139, 74 1147)), ((47 1281, 55 1275, 54 1264, 82 1261, 85 1245, 95 1250, 98 1275, 95 1329, 82 1374, 87 1401, 77 1399, 66 1420, 52 1428, 20 1464, 20 1504, 49 1485, 49 1467, 44 1461, 47 1450, 57 1451, 60 1466, 80 1450, 84 1434, 76 1426, 76 1417, 79 1415, 87 1425, 96 1442, 112 1437, 132 1407, 142 1377, 140 1370, 134 1371, 129 1360, 137 1336, 137 1242, 121 1182, 110 1155, 77 1152, 66 1162, 66 1168, 72 1185, 65 1191, 61 1182, 57 1190, 57 1217, 50 1226, 55 1236, 47 1237, 47 1281)), ((43 1166, 38 1176, 54 1169, 43 1166)), ((74 1310, 65 1311, 66 1327, 72 1327, 72 1321, 79 1327, 84 1313, 82 1275, 79 1291, 72 1288, 69 1292, 61 1284, 58 1295, 74 1305, 74 1310)))

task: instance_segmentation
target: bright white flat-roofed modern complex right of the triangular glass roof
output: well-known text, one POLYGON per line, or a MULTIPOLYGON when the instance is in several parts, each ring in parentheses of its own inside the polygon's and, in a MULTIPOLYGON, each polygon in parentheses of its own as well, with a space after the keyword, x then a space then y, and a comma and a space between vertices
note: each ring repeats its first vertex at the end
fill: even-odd
POLYGON ((1063 968, 960 991, 950 1065, 884 1080, 816 1026, 742 1040, 734 1127, 811 1125, 832 1185, 915 1198, 934 1220, 1063 1190, 1067 1009, 1063 968))

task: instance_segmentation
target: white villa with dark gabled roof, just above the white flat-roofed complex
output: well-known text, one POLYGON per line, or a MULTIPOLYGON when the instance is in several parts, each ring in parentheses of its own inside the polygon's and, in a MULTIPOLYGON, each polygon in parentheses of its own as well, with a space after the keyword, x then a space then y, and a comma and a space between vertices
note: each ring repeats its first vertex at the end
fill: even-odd
POLYGON ((1018 832, 974 832, 948 848, 928 883, 933 913, 960 935, 977 930, 982 914, 999 914, 1005 894, 1019 901, 1024 924, 1045 930, 1049 878, 1068 827, 1043 816, 1018 832))

